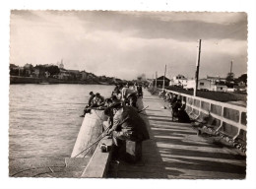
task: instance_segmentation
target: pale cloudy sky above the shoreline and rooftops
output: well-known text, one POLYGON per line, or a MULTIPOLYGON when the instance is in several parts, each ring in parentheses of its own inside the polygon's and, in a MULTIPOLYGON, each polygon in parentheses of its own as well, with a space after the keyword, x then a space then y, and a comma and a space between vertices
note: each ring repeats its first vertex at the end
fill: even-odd
POLYGON ((245 13, 12 11, 10 62, 56 64, 121 79, 247 72, 245 13))

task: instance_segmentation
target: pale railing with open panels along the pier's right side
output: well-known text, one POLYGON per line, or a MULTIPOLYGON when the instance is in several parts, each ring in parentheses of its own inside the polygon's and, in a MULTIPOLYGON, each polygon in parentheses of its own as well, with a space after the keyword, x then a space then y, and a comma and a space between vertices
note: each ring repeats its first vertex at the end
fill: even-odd
POLYGON ((195 119, 210 116, 216 131, 224 133, 233 140, 246 142, 246 107, 173 91, 167 92, 180 96, 182 102, 186 103, 187 113, 193 115, 195 119))

